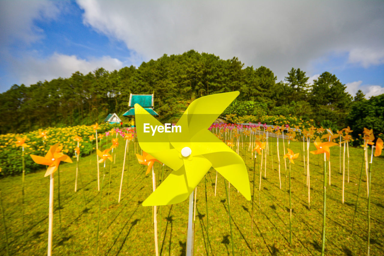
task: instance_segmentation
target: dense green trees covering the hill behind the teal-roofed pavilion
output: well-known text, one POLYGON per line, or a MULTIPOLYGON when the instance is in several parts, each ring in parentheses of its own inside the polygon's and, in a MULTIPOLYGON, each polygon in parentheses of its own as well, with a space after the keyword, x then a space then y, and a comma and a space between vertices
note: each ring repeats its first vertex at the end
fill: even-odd
POLYGON ((0 131, 100 122, 108 113, 124 113, 130 92, 154 92, 155 109, 161 121, 166 121, 194 98, 234 90, 240 91, 235 104, 252 106, 245 109, 247 115, 292 114, 314 119, 319 126, 339 128, 345 125, 352 106, 365 100, 361 91, 353 98, 345 88, 328 72, 309 85, 305 72, 292 68, 284 81, 276 82, 276 76, 264 66, 244 68, 238 58, 222 60, 190 50, 143 62, 139 68, 111 72, 99 68, 31 86, 13 85, 0 94, 0 131))

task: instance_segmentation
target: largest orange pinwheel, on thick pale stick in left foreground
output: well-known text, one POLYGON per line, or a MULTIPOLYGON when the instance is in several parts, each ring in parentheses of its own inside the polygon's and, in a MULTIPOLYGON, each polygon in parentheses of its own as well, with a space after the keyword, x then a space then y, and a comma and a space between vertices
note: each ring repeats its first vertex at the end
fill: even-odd
POLYGON ((58 148, 58 146, 59 146, 59 143, 56 143, 55 145, 51 146, 44 157, 30 155, 32 160, 35 161, 35 163, 39 165, 48 165, 48 169, 45 172, 44 177, 54 173, 59 167, 59 164, 61 161, 72 163, 72 160, 69 156, 64 155, 62 153, 56 153, 56 149, 58 148))

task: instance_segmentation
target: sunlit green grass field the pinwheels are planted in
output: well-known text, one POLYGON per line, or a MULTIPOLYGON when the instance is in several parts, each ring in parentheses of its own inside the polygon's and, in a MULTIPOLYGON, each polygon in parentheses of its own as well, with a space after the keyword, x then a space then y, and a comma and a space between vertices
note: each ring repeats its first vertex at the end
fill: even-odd
MULTIPOLYGON (((230 210, 235 255, 319 255, 321 253, 321 230, 323 221, 323 162, 322 156, 310 154, 311 208, 308 209, 308 188, 301 152, 302 143, 291 143, 291 149, 300 156, 291 166, 293 237, 289 246, 289 197, 284 195, 283 146, 280 140, 281 180, 279 188, 278 163, 275 138, 270 143, 266 178, 264 168, 260 191, 259 209, 258 181, 255 177, 255 209, 253 242, 251 243, 251 201, 247 201, 237 190, 230 187, 230 210), (273 151, 273 168, 271 153, 273 151), (319 159, 319 160, 318 160, 319 159), (318 165, 319 161, 319 165, 318 165), (285 207, 284 208, 284 202, 285 207), (253 251, 251 251, 253 249, 253 251)), ((126 164, 122 199, 118 204, 124 143, 120 146, 116 164, 111 166, 111 186, 109 209, 107 209, 108 170, 105 168, 103 199, 99 233, 98 255, 154 255, 154 231, 152 208, 141 205, 152 191, 150 175, 145 175, 146 166, 139 165, 134 156, 132 144, 129 150, 129 163, 126 164), (129 171, 127 171, 129 168, 129 171)), ((240 144, 241 145, 241 144, 240 144)), ((104 145, 103 145, 104 146, 104 145)), ((104 146, 105 148, 105 146, 104 146)), ((244 146, 244 148, 248 148, 244 146)), ((311 143, 310 150, 314 150, 311 143)), ((326 254, 364 255, 367 244, 367 193, 366 175, 362 175, 355 231, 351 235, 352 218, 358 191, 362 164, 362 148, 350 150, 350 182, 345 183, 345 203, 341 203, 342 174, 339 173, 339 148, 331 148, 331 186, 327 187, 326 254)), ((248 151, 246 164, 251 182, 253 160, 248 151)), ((29 157, 29 156, 27 156, 29 157)), ((21 161, 21 159, 20 159, 21 161)), ((384 158, 377 157, 372 166, 371 187, 371 255, 384 255, 384 158)), ((288 163, 287 163, 288 167, 288 163)), ((161 165, 155 163, 157 185, 161 165)), ((54 255, 94 255, 96 253, 96 229, 99 206, 97 190, 96 155, 82 157, 79 170, 84 189, 78 181, 78 191, 74 192, 76 163, 60 166, 61 229, 58 209, 58 173, 55 173, 55 210, 53 229, 54 255), (91 159, 91 165, 90 165, 91 159), (84 202, 83 193, 86 196, 84 202)), ((44 255, 48 236, 49 178, 44 178, 45 168, 25 176, 25 223, 22 234, 22 177, 6 177, 0 180, 2 203, 5 212, 5 225, 11 255, 44 255)), ((101 180, 103 165, 100 165, 101 180)), ((170 173, 165 168, 164 177, 170 173)), ((197 187, 195 220, 195 255, 231 255, 231 237, 224 180, 218 175, 217 195, 214 196, 216 171, 211 169, 205 180, 197 187), (208 201, 209 243, 207 239, 207 211, 205 192, 208 201)), ((100 183, 101 183, 100 180, 100 183)), ((327 181, 328 183, 328 181, 327 181)), ((228 184, 228 183, 227 183, 228 184)), ((287 180, 286 191, 288 191, 287 180)), ((187 233, 188 200, 171 206, 158 208, 159 253, 161 255, 184 255, 187 233)), ((0 254, 6 255, 5 232, 0 228, 0 254)))

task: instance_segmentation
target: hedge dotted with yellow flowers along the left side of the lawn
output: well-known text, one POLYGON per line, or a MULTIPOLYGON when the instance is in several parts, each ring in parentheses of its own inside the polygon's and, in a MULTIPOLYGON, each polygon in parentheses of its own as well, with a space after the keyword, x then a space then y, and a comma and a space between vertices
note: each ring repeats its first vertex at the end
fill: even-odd
MULTIPOLYGON (((113 127, 114 125, 103 123, 99 125, 98 134, 111 130, 113 127)), ((123 130, 124 129, 126 128, 123 128, 123 130)), ((0 168, 2 168, 0 175, 6 176, 22 173, 22 147, 17 147, 15 145, 15 142, 17 141, 16 137, 26 136, 25 143, 28 145, 24 148, 26 173, 41 168, 41 165, 35 164, 29 155, 33 154, 38 156, 45 156, 50 146, 56 143, 63 145, 63 153, 74 157, 74 148, 77 146, 77 142, 73 141, 75 136, 80 136, 82 138, 82 141, 80 141, 81 155, 89 155, 91 150, 93 152, 95 150, 95 140, 91 142, 88 138, 88 136, 95 134, 91 126, 78 125, 64 128, 49 127, 44 130, 46 130, 46 135, 48 136, 46 140, 43 140, 43 138, 37 138, 39 135, 38 131, 30 131, 28 133, 22 134, 8 133, 5 135, 0 135, 0 168)), ((102 141, 102 145, 104 145, 104 141, 106 141, 105 136, 102 141)))

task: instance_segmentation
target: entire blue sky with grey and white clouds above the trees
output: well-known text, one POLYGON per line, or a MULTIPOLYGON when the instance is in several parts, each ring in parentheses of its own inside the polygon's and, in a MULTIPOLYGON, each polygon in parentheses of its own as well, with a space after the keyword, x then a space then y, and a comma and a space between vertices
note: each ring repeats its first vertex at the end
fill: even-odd
POLYGON ((0 1, 0 92, 190 49, 384 93, 384 1, 0 1))

